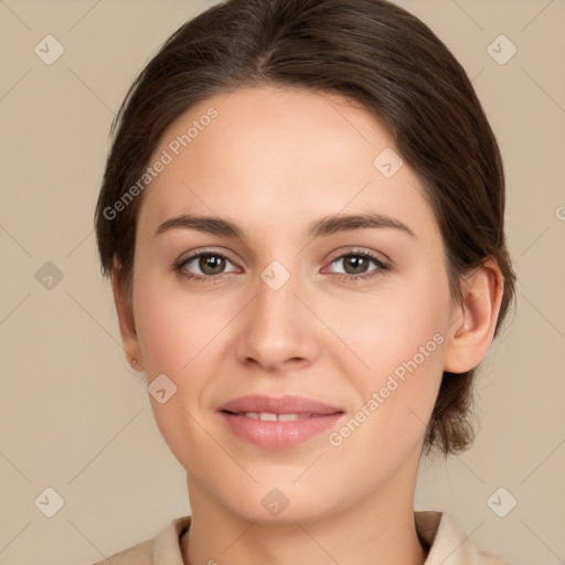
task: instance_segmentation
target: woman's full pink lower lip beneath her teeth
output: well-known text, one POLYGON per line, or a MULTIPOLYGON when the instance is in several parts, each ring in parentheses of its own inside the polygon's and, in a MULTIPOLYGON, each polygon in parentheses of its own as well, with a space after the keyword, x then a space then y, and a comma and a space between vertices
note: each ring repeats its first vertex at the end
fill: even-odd
POLYGON ((343 416, 343 413, 340 413, 313 415, 288 422, 265 422, 242 414, 218 414, 236 436, 267 449, 282 449, 301 444, 334 426, 343 416))

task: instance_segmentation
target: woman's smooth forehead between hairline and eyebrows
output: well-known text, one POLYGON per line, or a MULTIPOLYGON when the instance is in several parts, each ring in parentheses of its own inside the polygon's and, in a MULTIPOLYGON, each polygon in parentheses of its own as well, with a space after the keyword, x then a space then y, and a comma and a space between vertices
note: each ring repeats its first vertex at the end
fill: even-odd
POLYGON ((345 98, 274 87, 218 94, 163 135, 151 162, 168 162, 146 189, 141 216, 154 226, 192 211, 276 230, 372 210, 429 222, 416 174, 404 163, 383 175, 383 151, 401 159, 380 119, 345 98))

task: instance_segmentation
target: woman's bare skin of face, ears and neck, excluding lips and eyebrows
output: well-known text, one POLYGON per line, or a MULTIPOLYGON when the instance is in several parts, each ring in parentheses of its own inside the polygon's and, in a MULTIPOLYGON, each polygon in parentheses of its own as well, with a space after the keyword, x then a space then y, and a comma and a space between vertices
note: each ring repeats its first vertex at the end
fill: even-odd
POLYGON ((488 353, 500 270, 489 260, 465 279, 465 307, 451 297, 441 236, 416 173, 405 162, 385 178, 373 160, 395 149, 392 137, 337 96, 262 87, 211 97, 169 128, 154 157, 211 106, 217 117, 142 195, 131 308, 118 262, 113 275, 127 358, 138 360, 148 384, 164 373, 177 386, 164 404, 150 401, 186 470, 184 563, 363 565, 379 556, 422 564, 414 492, 425 425, 443 371, 467 371, 488 353), (391 227, 306 235, 322 216, 367 211, 404 223, 414 237, 391 227), (189 212, 230 218, 247 239, 189 228, 154 235, 189 212), (203 249, 224 255, 224 270, 203 271, 196 259, 184 271, 206 280, 174 271, 175 262, 203 249), (359 252, 391 268, 370 260, 352 270, 343 254, 359 252), (273 260, 290 274, 278 290, 260 278, 273 260), (370 271, 376 275, 342 279, 370 271), (329 433, 435 334, 443 343, 332 446, 329 433), (299 394, 347 414, 298 446, 262 449, 234 436, 216 413, 252 393, 299 394), (262 505, 273 488, 288 500, 277 516, 262 505))

